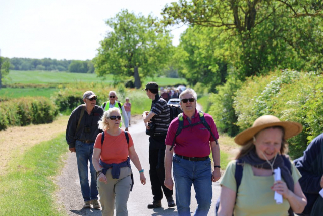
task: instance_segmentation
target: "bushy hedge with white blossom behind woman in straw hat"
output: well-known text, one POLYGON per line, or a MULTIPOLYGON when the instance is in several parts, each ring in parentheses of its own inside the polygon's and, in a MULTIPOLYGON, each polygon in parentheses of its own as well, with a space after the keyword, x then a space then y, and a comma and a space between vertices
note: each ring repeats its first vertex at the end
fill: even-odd
POLYGON ((296 158, 323 131, 322 98, 322 74, 284 70, 249 78, 234 98, 236 124, 242 131, 264 114, 301 123, 302 133, 289 140, 289 154, 296 158))

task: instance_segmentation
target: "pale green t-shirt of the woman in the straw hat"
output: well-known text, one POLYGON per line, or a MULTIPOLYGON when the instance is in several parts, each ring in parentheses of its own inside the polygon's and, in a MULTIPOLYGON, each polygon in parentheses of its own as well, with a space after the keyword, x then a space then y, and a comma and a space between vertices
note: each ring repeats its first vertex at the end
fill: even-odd
MULTIPOLYGON (((291 168, 292 178, 296 184, 301 175, 293 163, 291 168)), ((237 183, 234 177, 235 170, 236 161, 233 160, 228 164, 221 181, 222 186, 226 186, 234 191, 237 190, 237 183)), ((241 184, 238 189, 236 205, 234 207, 234 215, 288 215, 287 212, 290 208, 289 202, 287 199, 283 199, 282 204, 276 204, 276 201, 274 200, 274 191, 271 189, 273 184, 273 176, 255 176, 252 171, 252 166, 245 163, 243 166, 241 184)))

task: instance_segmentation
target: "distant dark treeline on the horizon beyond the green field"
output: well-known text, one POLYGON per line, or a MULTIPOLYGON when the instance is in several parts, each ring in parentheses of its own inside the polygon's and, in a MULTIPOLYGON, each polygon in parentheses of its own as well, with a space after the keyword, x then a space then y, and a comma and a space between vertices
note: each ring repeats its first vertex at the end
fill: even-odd
POLYGON ((9 58, 11 70, 49 70, 69 71, 72 73, 94 73, 91 60, 56 60, 51 58, 9 58))

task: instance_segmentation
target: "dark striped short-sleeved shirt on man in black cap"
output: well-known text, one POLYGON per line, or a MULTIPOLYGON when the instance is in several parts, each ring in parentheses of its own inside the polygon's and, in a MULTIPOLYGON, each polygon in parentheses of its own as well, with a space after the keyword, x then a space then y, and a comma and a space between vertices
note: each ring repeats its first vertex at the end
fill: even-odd
POLYGON ((155 100, 152 101, 150 112, 155 114, 152 117, 152 121, 156 124, 154 135, 166 135, 170 125, 171 113, 167 102, 158 94, 156 94, 155 100))

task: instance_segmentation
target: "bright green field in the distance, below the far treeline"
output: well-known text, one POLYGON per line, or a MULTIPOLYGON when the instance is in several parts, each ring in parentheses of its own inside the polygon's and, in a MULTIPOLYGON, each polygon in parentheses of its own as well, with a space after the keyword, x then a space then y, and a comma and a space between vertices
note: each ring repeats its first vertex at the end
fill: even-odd
MULTIPOLYGON (((51 72, 51 71, 22 71, 11 70, 9 72, 9 83, 22 84, 48 84, 48 83, 70 83, 70 82, 103 82, 112 84, 112 75, 107 75, 104 80, 102 77, 97 77, 96 74, 89 73, 69 73, 69 72, 51 72)), ((148 81, 156 81, 160 86, 186 84, 185 79, 155 77, 141 80, 143 85, 148 81)))

